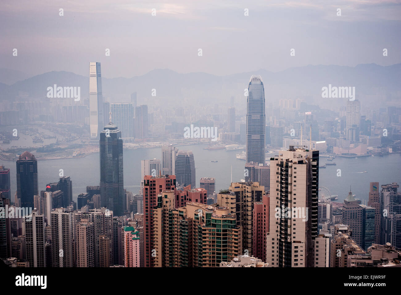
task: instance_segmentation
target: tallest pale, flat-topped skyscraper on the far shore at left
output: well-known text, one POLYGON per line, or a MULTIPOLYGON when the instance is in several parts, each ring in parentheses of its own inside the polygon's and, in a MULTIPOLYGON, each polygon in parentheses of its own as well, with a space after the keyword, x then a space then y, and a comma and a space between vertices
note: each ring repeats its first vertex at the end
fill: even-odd
POLYGON ((99 138, 104 126, 100 63, 89 63, 89 124, 91 139, 99 138))

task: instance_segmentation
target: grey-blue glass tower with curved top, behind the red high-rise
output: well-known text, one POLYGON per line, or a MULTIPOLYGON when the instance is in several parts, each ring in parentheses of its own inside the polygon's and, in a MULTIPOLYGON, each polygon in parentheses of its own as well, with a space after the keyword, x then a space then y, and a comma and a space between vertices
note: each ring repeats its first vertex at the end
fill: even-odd
POLYGON ((196 186, 195 161, 192 151, 178 151, 175 163, 177 183, 183 186, 196 186))

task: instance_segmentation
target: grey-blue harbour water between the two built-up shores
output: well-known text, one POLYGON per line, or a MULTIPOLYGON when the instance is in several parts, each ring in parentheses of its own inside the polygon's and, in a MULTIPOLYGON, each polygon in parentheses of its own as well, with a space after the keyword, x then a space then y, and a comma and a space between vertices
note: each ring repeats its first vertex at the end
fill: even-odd
MULTIPOLYGON (((196 186, 199 187, 201 177, 216 178, 216 192, 227 189, 231 182, 231 166, 233 181, 244 178, 245 161, 236 159, 238 151, 204 150, 207 145, 178 146, 178 149, 191 150, 194 154, 196 168, 196 186), (217 161, 217 162, 211 162, 217 161)), ((124 188, 133 193, 139 192, 140 167, 143 159, 160 159, 161 148, 124 150, 124 188)), ((320 157, 319 165, 324 165, 328 158, 320 157)), ((327 187, 332 195, 338 195, 342 202, 352 193, 362 200, 368 199, 369 182, 379 181, 380 185, 401 183, 401 155, 390 154, 384 157, 336 157, 334 166, 319 169, 319 187, 327 187), (341 169, 341 176, 337 176, 341 169), (367 171, 364 173, 364 171, 367 171)), ((15 161, 1 161, 11 173, 12 196, 16 191, 15 161)), ((44 190, 47 183, 59 180, 59 170, 63 169, 65 176, 71 176, 73 181, 73 200, 80 193, 86 192, 87 185, 99 185, 99 154, 84 158, 38 161, 39 191, 44 190)))

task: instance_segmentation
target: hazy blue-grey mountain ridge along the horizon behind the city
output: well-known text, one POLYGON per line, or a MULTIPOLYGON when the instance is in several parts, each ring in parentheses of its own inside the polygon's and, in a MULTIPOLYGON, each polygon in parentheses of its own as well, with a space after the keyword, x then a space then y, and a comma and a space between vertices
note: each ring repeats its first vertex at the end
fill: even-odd
MULTIPOLYGON (((399 96, 401 91, 401 63, 385 67, 374 63, 356 67, 307 65, 277 73, 260 69, 226 76, 182 74, 169 69, 154 69, 132 78, 102 78, 102 88, 103 96, 110 101, 130 100, 130 94, 136 91, 138 105, 159 100, 166 104, 179 101, 182 105, 199 105, 203 101, 205 104, 227 105, 231 96, 238 102, 243 100, 244 89, 253 74, 259 74, 263 79, 267 105, 277 105, 275 101, 281 98, 308 98, 308 103, 332 104, 332 101, 323 101, 321 98, 321 89, 328 84, 355 86, 356 99, 360 100, 371 95, 391 100, 399 96), (153 88, 156 89, 156 97, 151 96, 153 88)), ((36 75, 12 85, 6 85, 5 81, 0 79, 0 100, 14 100, 20 94, 27 94, 28 99, 45 98, 47 87, 53 84, 62 87, 80 86, 81 99, 89 96, 89 77, 66 71, 36 75)))

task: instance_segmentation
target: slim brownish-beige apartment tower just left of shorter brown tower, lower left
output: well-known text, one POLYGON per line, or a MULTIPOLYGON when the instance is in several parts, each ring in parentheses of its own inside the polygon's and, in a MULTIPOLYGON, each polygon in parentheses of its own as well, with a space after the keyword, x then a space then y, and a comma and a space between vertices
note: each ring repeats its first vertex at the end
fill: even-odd
POLYGON ((95 267, 95 225, 82 219, 76 226, 77 267, 95 267))

